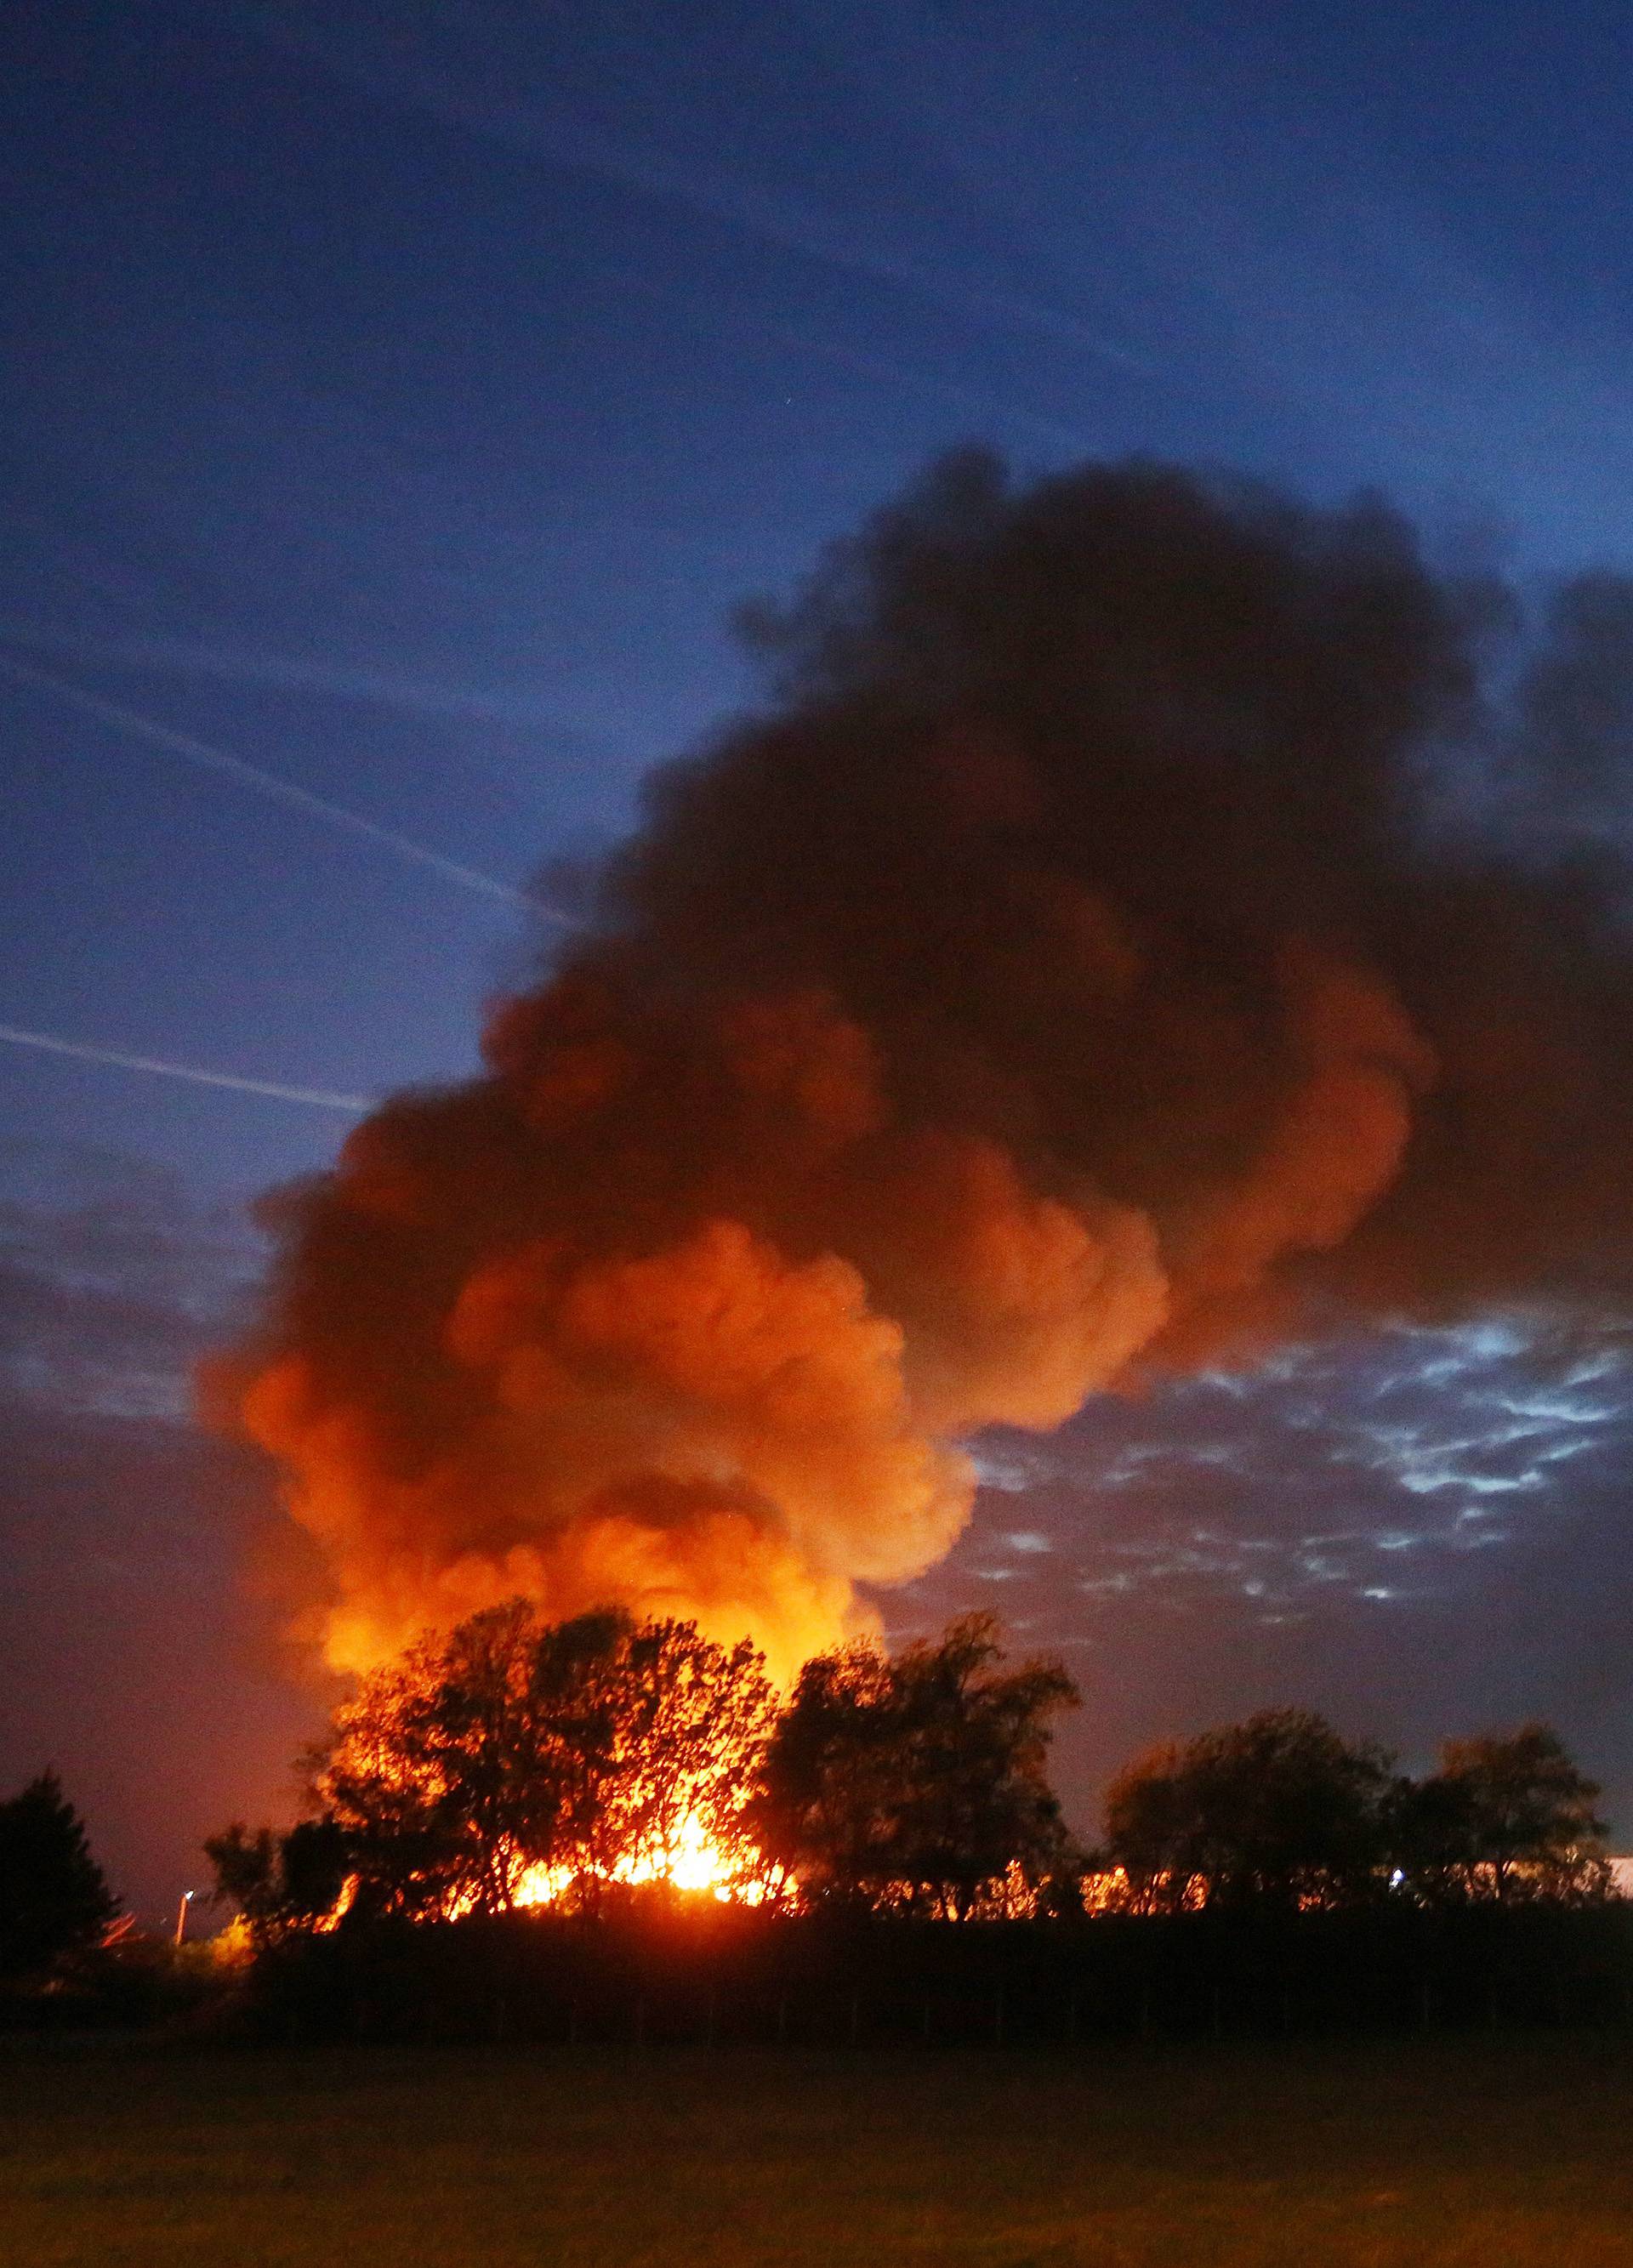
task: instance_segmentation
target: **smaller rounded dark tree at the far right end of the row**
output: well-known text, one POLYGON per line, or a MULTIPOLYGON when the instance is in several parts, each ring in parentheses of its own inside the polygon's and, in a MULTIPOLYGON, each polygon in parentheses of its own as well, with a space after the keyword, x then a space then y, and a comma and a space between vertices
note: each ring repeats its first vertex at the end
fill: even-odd
POLYGON ((1393 1860, 1429 1901, 1604 1896, 1597 1799, 1547 1724, 1449 1740, 1440 1771, 1395 1799, 1393 1860))

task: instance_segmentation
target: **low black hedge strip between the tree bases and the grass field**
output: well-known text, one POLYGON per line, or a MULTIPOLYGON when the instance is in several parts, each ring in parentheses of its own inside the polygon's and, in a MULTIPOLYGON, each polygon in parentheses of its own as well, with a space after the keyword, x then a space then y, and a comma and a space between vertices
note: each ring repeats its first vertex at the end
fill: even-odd
POLYGON ((1032 2046, 1415 2034, 1633 2019, 1633 1907, 1399 1901, 948 1923, 621 1901, 290 1932, 252 2037, 538 2046, 1032 2046))

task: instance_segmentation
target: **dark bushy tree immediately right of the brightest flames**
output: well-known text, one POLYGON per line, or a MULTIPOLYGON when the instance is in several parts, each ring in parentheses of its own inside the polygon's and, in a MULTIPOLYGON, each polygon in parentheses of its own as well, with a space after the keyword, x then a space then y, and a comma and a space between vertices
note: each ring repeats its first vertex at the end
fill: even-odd
POLYGON ((894 1658, 853 1644, 805 1662, 751 1826, 807 1901, 962 1916, 1068 1860, 1043 1765, 1077 1690, 1059 1665, 998 1658, 993 1619, 968 1615, 894 1658))

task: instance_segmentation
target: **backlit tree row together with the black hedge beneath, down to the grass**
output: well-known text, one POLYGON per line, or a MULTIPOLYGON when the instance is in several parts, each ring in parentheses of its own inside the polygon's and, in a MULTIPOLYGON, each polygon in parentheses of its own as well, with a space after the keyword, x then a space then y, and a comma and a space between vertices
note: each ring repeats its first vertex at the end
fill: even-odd
POLYGON ((1547 1726, 1397 1774, 1309 1710, 1048 1785, 987 1617, 810 1660, 522 1601, 363 1683, 315 1817, 209 1844, 281 2037, 1034 2039, 1633 2014, 1633 1907, 1547 1726))

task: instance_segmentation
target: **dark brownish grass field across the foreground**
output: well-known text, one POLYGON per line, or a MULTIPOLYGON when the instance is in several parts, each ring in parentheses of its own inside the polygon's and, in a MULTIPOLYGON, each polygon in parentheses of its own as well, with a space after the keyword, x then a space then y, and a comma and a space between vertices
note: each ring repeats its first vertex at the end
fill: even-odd
POLYGON ((1633 2043, 0 2041, 0 2261, 1633 2268, 1633 2043))

